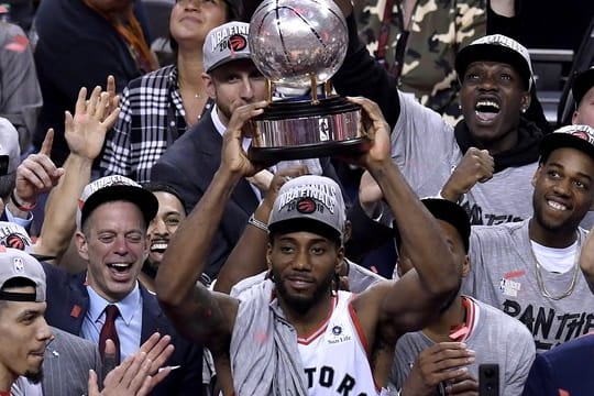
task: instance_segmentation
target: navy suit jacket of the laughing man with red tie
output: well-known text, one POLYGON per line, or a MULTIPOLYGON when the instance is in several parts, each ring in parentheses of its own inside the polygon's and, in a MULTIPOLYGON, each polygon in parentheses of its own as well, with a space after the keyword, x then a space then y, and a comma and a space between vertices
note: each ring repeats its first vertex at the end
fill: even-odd
MULTIPOLYGON (((85 286, 86 273, 68 274, 51 264, 43 263, 47 277, 47 309, 45 319, 51 326, 73 334, 80 334, 82 320, 89 307, 85 286)), ((141 343, 155 331, 169 334, 175 352, 167 365, 180 367, 157 385, 151 395, 201 395, 202 349, 182 338, 161 310, 156 296, 140 285, 142 296, 141 343)))

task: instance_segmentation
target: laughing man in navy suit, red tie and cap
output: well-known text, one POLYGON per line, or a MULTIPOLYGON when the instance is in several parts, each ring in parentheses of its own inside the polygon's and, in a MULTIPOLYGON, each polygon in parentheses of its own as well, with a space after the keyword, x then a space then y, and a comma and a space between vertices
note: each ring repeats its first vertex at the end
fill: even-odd
POLYGON ((116 306, 114 321, 121 360, 138 351, 158 331, 175 346, 168 365, 179 366, 153 395, 199 395, 202 351, 179 337, 162 312, 154 294, 138 282, 146 254, 146 227, 157 211, 154 195, 122 176, 100 178, 85 187, 79 200, 76 243, 87 271, 70 275, 44 265, 50 324, 98 343, 116 306))

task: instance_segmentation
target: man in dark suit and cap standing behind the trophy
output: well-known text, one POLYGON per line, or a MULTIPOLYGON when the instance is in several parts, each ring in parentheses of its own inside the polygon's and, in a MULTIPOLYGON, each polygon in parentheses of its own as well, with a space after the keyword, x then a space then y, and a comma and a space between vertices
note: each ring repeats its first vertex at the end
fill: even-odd
MULTIPOLYGON (((216 106, 167 148, 151 169, 151 182, 175 188, 188 213, 200 200, 219 168, 222 134, 233 111, 266 98, 266 78, 251 59, 248 30, 248 23, 229 22, 209 32, 202 51, 206 72, 202 78, 216 106)), ((250 143, 251 140, 244 139, 245 147, 250 143)), ((307 165, 309 173, 323 174, 338 182, 329 158, 307 160, 301 164, 307 165)), ((267 189, 271 179, 272 174, 263 170, 249 180, 241 180, 234 188, 208 258, 205 271, 208 277, 217 276, 248 224, 248 219, 257 208, 261 191, 267 189)))

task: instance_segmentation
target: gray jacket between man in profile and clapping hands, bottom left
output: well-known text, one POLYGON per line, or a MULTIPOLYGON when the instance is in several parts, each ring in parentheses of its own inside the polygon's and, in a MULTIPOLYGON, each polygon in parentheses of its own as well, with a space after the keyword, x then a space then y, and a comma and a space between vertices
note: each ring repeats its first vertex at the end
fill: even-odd
MULTIPOLYGON (((44 396, 80 396, 88 394, 89 370, 101 373, 97 345, 80 337, 53 328, 54 340, 45 350, 42 389, 44 396)), ((19 377, 12 395, 28 395, 31 385, 19 377)))

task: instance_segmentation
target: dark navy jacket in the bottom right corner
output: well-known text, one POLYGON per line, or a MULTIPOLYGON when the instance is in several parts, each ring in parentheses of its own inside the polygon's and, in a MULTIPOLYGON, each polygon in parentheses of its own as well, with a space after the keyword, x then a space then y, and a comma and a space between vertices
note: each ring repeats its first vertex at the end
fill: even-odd
POLYGON ((592 389, 594 389, 594 334, 586 334, 537 354, 526 381, 524 395, 585 396, 592 395, 592 389))

